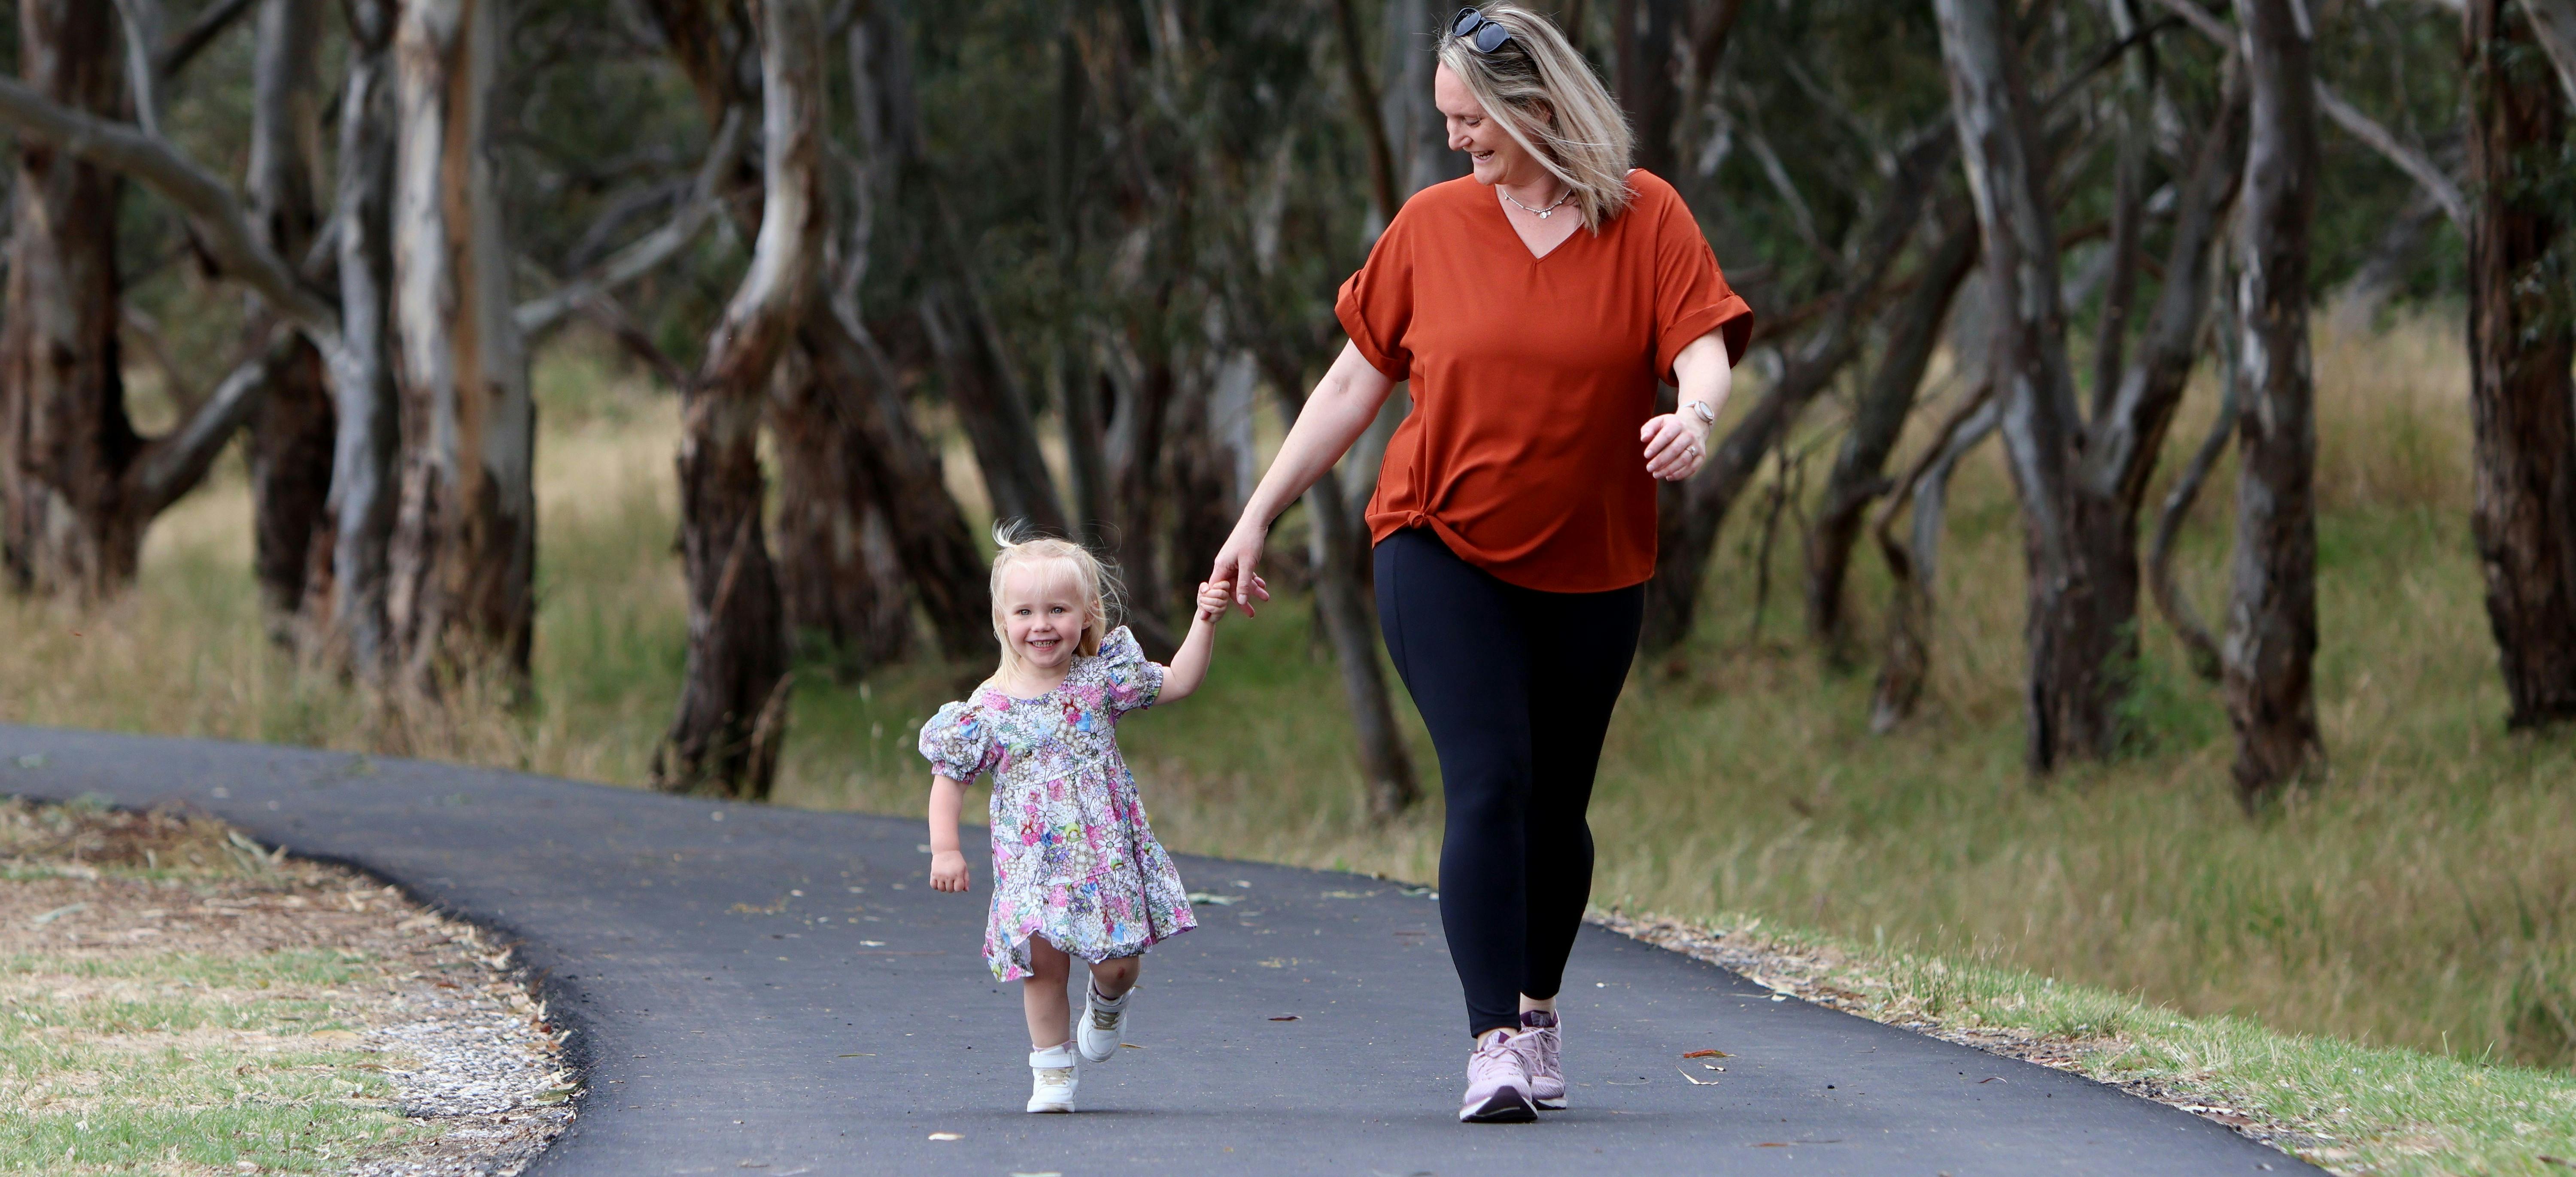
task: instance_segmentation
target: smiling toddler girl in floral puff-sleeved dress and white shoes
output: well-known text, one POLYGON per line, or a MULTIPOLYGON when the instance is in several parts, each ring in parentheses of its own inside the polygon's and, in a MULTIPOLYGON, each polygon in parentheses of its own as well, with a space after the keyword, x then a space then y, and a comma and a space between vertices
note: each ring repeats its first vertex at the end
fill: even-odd
POLYGON ((1074 1110, 1074 1053, 1105 1064, 1128 1035, 1139 958, 1198 919, 1172 855, 1146 827, 1118 719, 1198 690, 1231 585, 1198 585, 1198 618, 1170 667, 1108 628, 1115 585, 1079 543, 997 531, 992 634, 1002 667, 974 698, 922 724, 930 760, 930 889, 966 891, 958 809, 992 773, 992 917, 984 961, 1023 981, 1033 1113, 1074 1110), (1090 963, 1082 1028, 1066 1043, 1064 981, 1090 963), (1072 1046, 1072 1051, 1066 1048, 1072 1046))

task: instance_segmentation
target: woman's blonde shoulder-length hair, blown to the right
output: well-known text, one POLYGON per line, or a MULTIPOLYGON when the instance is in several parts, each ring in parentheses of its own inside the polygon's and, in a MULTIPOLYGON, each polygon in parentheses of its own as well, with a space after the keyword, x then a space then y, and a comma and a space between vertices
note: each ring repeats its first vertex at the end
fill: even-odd
POLYGON ((1628 160, 1636 139, 1610 90, 1553 21, 1517 3, 1476 5, 1512 39, 1492 54, 1440 26, 1440 64, 1450 67, 1484 113, 1574 191, 1584 229, 1602 232, 1636 196, 1628 160))

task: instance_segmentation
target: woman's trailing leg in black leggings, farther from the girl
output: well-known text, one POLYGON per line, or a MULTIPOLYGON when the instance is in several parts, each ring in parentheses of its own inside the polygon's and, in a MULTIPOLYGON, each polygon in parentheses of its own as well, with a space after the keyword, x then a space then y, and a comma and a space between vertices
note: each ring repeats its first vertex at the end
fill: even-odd
POLYGON ((1530 634, 1530 829, 1525 1007, 1553 1010, 1592 899, 1592 775, 1628 685, 1646 590, 1525 592, 1530 634), (1530 1002, 1535 999, 1535 1002, 1530 1002))

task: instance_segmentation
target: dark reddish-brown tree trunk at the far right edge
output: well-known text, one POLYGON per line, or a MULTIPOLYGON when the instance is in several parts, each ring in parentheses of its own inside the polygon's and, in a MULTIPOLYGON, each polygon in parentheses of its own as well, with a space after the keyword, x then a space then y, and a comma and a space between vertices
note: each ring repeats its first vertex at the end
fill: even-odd
POLYGON ((2576 332, 2566 319, 2566 206, 2532 178, 2566 142, 2566 106, 2504 0, 2468 3, 2476 203, 2468 234, 2470 420, 2486 621, 2514 729, 2576 719, 2576 332))

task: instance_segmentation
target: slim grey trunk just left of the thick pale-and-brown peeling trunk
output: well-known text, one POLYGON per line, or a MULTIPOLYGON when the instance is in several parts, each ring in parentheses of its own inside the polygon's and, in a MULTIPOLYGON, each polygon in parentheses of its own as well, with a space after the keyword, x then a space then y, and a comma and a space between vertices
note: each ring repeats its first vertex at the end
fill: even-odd
POLYGON ((332 353, 330 564, 307 595, 307 641, 384 685, 402 458, 394 386, 394 0, 350 0, 348 82, 340 88, 340 348, 332 353))

